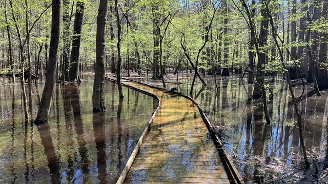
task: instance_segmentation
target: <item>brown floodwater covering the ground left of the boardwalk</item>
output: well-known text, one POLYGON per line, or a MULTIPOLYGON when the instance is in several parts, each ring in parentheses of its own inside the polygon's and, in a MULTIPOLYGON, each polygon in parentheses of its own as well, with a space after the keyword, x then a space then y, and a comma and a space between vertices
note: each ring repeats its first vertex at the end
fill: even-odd
MULTIPOLYGON (((115 183, 158 102, 105 83, 106 112, 92 113, 93 76, 80 85, 56 84, 49 122, 25 121, 20 85, 0 80, 1 183, 115 183), (149 105, 151 104, 151 105, 149 105)), ((43 85, 33 84, 35 118, 43 85)))

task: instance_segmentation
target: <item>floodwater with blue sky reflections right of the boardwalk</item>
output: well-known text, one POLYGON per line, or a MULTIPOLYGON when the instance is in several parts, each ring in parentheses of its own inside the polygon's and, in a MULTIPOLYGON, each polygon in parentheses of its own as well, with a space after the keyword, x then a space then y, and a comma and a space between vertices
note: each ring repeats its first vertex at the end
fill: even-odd
MULTIPOLYGON (((188 91, 192 76, 188 80, 186 73, 180 73, 178 81, 177 76, 169 77, 168 89, 176 87, 178 92, 190 96, 188 91)), ((208 85, 202 87, 198 80, 192 97, 217 128, 224 147, 234 158, 234 164, 245 182, 279 182, 279 179, 284 178, 287 182, 313 183, 328 179, 327 175, 320 178, 315 172, 315 164, 305 173, 301 169, 304 164, 297 117, 289 91, 286 90, 288 85, 282 76, 277 76, 276 82, 268 83, 273 93, 269 103, 270 125, 264 119, 262 101, 247 103, 253 85, 248 85, 247 81, 241 81, 237 76, 217 77, 217 92, 213 76, 204 79, 208 85)), ((160 80, 155 83, 145 79, 140 81, 161 86, 160 80)), ((295 96, 299 97, 302 83, 296 82, 299 86, 294 87, 294 91, 295 96)), ((302 133, 308 157, 310 162, 318 164, 320 173, 320 170, 327 171, 327 165, 320 166, 317 158, 327 153, 328 91, 321 91, 322 96, 319 97, 313 95, 312 90, 312 83, 306 85, 305 95, 302 100, 298 99, 298 104, 302 111, 302 133)))

